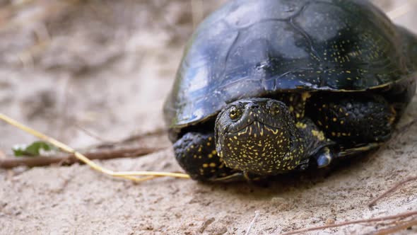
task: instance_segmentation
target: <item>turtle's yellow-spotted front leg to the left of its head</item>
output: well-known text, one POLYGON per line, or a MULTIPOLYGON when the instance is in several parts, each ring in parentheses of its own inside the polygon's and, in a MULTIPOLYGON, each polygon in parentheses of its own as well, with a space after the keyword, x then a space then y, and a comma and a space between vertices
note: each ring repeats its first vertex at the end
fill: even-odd
POLYGON ((240 173, 225 166, 218 157, 214 144, 213 132, 189 132, 175 142, 175 158, 194 180, 245 180, 240 173))

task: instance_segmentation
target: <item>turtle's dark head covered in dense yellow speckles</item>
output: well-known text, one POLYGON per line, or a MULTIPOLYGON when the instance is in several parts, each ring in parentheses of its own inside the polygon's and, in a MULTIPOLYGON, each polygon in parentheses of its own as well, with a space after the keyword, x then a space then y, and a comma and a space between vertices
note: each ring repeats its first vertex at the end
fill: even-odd
POLYGON ((240 171, 275 175, 303 158, 295 118, 281 101, 245 98, 227 105, 216 119, 216 151, 225 165, 240 171))

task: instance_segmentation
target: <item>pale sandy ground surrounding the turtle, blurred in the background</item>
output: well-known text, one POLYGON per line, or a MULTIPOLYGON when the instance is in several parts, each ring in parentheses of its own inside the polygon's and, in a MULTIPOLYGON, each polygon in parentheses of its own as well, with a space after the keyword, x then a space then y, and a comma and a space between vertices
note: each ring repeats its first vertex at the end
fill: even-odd
MULTIPOLYGON (((204 14, 220 3, 204 1, 204 14)), ((377 1, 385 11, 405 3, 377 1)), ((1 113, 78 148, 102 141, 80 126, 110 141, 163 128, 163 99, 192 33, 191 6, 180 0, 0 1, 1 113)), ((395 21, 417 32, 416 13, 413 7, 395 21)), ((400 125, 416 117, 417 96, 400 125)), ((2 122, 0 133, 0 157, 13 144, 35 140, 2 122)), ((268 187, 173 178, 134 184, 78 164, 0 170, 0 234, 245 234, 255 212, 251 234, 280 234, 417 210, 417 183, 366 206, 416 176, 416 143, 414 125, 370 156, 268 187)), ((146 144, 169 143, 163 135, 146 144)), ((181 170, 170 148, 99 163, 121 171, 181 170)), ((382 226, 312 234, 363 234, 382 226)))

